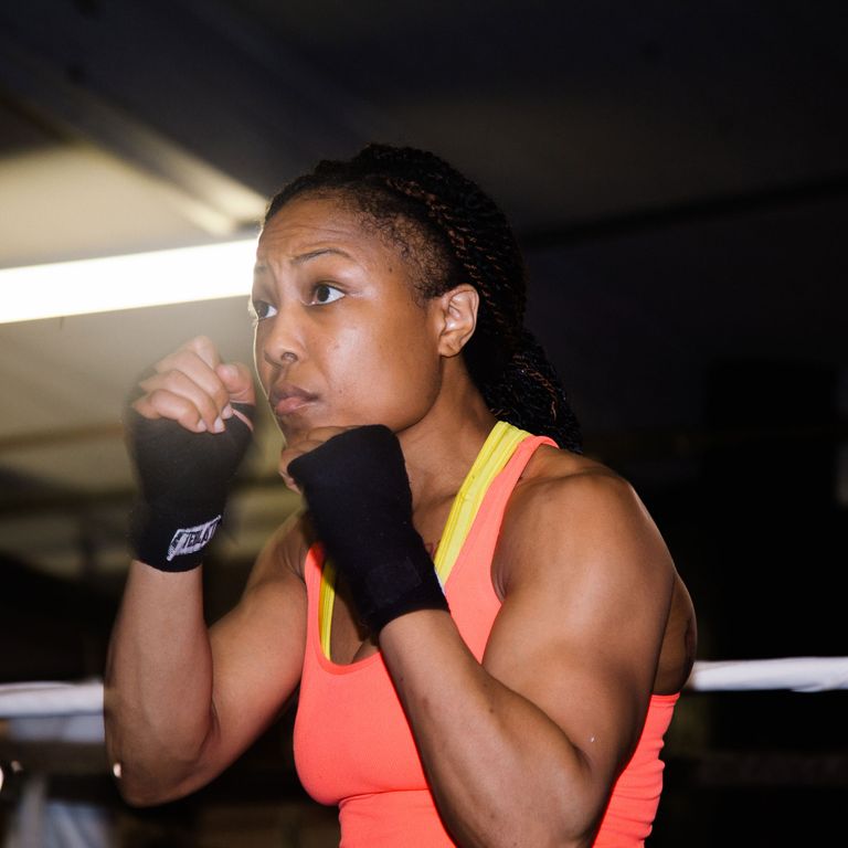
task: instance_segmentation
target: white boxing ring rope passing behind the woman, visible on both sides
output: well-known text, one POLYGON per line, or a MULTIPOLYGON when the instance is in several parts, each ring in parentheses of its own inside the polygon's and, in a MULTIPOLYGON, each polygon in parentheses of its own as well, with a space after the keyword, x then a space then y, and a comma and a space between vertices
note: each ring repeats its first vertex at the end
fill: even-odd
MULTIPOLYGON (((688 690, 824 692, 848 689, 848 657, 699 660, 688 690)), ((103 682, 0 685, 0 719, 103 713, 103 682)))

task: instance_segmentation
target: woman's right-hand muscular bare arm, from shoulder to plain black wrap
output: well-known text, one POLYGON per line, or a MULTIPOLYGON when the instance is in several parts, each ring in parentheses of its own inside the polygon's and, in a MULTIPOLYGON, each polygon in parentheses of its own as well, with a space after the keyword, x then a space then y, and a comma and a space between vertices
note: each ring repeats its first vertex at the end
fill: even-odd
POLYGON ((674 569, 606 475, 528 487, 498 556, 509 577, 483 665, 442 612, 396 618, 380 646, 462 845, 590 845, 638 740, 674 569))

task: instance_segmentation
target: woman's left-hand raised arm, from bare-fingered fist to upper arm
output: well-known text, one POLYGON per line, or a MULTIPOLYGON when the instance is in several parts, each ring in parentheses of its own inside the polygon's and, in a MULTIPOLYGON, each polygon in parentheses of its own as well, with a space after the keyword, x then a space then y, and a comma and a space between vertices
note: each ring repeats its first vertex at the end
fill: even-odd
POLYGON ((172 571, 163 550, 174 528, 209 522, 223 510, 241 453, 227 454, 219 439, 230 426, 224 420, 240 414, 231 404, 254 403, 247 370, 222 363, 199 337, 157 363, 139 388, 127 415, 144 495, 134 545, 146 561, 130 565, 109 649, 105 714, 121 793, 155 804, 214 777, 277 713, 297 685, 306 602, 297 526, 272 540, 240 604, 211 632, 195 564, 201 554, 187 545, 192 559, 172 571), (219 495, 206 502, 213 489, 219 495))

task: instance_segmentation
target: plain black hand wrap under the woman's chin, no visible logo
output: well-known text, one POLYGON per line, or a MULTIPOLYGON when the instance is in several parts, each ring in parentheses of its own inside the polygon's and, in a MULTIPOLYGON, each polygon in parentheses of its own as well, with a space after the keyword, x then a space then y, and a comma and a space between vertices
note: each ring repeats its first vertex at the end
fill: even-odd
POLYGON ((391 430, 346 431, 294 459, 288 473, 372 633, 404 613, 447 610, 433 561, 412 526, 410 481, 391 430))

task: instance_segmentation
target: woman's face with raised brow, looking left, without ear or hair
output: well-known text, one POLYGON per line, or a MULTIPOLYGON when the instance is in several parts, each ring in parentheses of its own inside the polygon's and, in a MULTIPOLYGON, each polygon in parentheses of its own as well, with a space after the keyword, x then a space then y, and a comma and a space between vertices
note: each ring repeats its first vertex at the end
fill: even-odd
POLYGON ((252 295, 256 371, 289 444, 318 426, 421 421, 441 380, 437 299, 338 201, 296 199, 265 226, 252 295))

